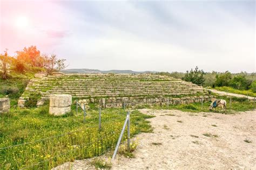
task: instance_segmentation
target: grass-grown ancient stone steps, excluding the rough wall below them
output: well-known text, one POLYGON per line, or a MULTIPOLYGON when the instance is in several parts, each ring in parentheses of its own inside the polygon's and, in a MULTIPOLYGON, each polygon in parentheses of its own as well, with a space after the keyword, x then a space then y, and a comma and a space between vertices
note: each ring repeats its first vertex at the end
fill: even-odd
POLYGON ((172 77, 152 74, 71 74, 30 81, 22 97, 30 93, 71 94, 73 97, 191 95, 203 88, 172 77))

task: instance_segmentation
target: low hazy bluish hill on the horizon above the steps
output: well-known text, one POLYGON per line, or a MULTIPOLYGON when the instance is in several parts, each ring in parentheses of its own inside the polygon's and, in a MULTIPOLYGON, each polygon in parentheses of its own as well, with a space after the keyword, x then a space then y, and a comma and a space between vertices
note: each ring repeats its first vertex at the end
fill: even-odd
POLYGON ((142 74, 142 73, 156 73, 156 72, 150 72, 150 71, 144 71, 144 72, 134 72, 133 70, 99 70, 99 69, 87 69, 87 68, 81 68, 81 69, 63 69, 60 70, 60 72, 65 74, 76 74, 76 73, 127 73, 127 74, 142 74))

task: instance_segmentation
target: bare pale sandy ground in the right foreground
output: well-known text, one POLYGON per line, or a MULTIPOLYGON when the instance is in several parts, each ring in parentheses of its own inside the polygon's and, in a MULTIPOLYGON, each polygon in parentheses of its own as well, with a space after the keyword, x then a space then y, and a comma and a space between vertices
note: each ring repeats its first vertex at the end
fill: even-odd
MULTIPOLYGON (((235 115, 140 111, 156 116, 149 119, 154 132, 137 135, 136 158, 118 156, 112 169, 256 169, 256 110, 235 115)), ((76 160, 58 169, 91 169, 88 162, 76 160)))

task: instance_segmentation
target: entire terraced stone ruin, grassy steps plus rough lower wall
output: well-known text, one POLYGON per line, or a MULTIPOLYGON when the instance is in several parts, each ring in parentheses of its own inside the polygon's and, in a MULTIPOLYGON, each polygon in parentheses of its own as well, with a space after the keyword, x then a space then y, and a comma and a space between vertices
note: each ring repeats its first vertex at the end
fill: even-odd
POLYGON ((136 104, 178 104, 208 99, 203 87, 153 74, 68 74, 32 79, 22 97, 22 107, 31 94, 41 96, 38 105, 51 94, 70 94, 73 98, 99 103, 103 107, 122 107, 136 104))

